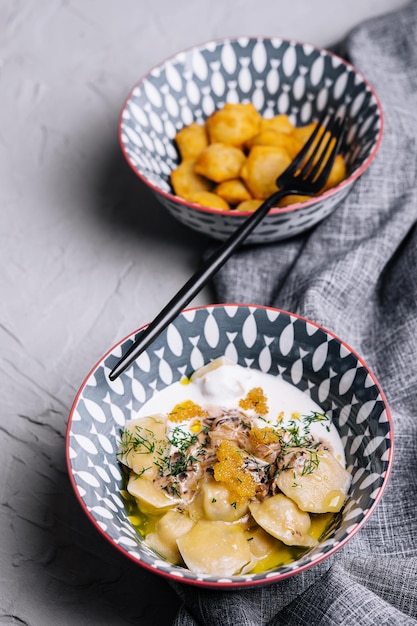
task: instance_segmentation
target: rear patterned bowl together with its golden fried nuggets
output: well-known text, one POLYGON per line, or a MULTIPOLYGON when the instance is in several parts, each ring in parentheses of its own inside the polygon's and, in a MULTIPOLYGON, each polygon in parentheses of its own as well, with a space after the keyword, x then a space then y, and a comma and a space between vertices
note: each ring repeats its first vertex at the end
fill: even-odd
POLYGON ((341 57, 277 37, 195 46, 136 83, 119 140, 135 174, 176 219, 225 240, 277 191, 277 177, 332 112, 347 118, 347 132, 330 176, 314 197, 283 198, 246 239, 269 243, 328 217, 378 151, 378 96, 341 57))

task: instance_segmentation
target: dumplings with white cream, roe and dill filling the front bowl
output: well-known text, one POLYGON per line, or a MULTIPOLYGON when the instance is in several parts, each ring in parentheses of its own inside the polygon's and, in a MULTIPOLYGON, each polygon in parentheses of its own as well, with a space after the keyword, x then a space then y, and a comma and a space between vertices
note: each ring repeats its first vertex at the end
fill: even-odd
POLYGON ((145 543, 197 575, 299 558, 336 522, 351 483, 316 403, 222 357, 149 400, 121 431, 119 460, 145 543))

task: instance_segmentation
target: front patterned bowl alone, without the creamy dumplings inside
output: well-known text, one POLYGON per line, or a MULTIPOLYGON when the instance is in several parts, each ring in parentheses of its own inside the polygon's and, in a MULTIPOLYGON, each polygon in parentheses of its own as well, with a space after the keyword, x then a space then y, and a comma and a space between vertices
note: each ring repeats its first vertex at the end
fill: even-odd
POLYGON ((113 546, 153 573, 228 589, 264 585, 302 572, 342 548, 366 523, 390 474, 392 422, 378 382, 345 343, 317 324, 278 309, 207 306, 184 311, 124 374, 110 382, 109 372, 136 336, 121 341, 92 369, 74 401, 67 430, 67 462, 75 493, 113 546), (289 565, 230 579, 197 576, 144 545, 121 497, 117 459, 119 431, 144 402, 222 355, 282 377, 317 402, 339 431, 352 474, 338 523, 316 547, 289 565))

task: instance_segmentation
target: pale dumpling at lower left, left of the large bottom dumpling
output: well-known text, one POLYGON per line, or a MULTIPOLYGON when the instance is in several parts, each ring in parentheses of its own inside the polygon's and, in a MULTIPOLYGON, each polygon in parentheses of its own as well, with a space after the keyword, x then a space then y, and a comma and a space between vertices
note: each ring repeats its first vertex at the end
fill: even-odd
POLYGON ((145 543, 165 559, 177 565, 182 563, 177 539, 185 535, 193 526, 194 522, 186 513, 177 510, 168 511, 156 522, 155 531, 147 535, 145 543))

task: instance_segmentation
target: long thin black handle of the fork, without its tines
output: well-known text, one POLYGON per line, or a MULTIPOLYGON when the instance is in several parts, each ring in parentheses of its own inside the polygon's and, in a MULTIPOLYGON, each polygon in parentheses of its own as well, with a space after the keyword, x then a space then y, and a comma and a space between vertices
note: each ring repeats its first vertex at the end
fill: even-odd
POLYGON ((155 317, 153 322, 141 332, 140 336, 130 346, 129 350, 117 362, 109 374, 110 380, 116 380, 116 378, 149 347, 168 324, 172 322, 194 296, 201 291, 210 278, 226 263, 227 259, 233 254, 236 248, 246 239, 254 228, 256 228, 278 200, 287 196, 289 193, 291 193, 291 191, 288 190, 279 190, 273 193, 209 256, 203 266, 191 276, 183 287, 181 287, 176 295, 155 317))

